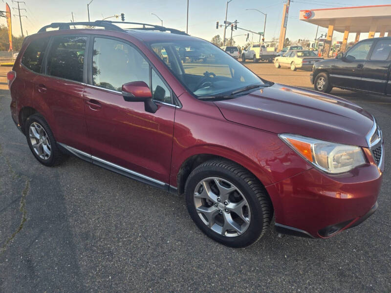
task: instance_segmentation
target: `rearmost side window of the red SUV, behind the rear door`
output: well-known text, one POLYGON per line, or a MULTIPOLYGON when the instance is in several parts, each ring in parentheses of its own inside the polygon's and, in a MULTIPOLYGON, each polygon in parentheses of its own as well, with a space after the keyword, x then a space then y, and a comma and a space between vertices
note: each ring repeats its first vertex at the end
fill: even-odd
POLYGON ((32 41, 24 51, 22 64, 32 71, 41 72, 48 40, 48 38, 45 38, 32 41))

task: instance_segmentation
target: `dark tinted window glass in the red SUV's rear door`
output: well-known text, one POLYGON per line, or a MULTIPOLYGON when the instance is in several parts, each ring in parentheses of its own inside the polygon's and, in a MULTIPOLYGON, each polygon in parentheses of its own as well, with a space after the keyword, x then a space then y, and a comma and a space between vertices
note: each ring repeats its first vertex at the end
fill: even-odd
POLYGON ((53 38, 47 58, 47 74, 75 82, 83 82, 84 55, 87 37, 53 38))

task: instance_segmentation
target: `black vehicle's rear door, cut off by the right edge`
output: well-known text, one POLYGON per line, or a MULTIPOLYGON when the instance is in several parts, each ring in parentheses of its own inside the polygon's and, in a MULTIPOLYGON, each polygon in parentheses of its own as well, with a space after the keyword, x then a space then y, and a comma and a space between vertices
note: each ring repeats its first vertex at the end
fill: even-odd
POLYGON ((373 45, 369 59, 364 64, 359 89, 386 93, 391 67, 391 39, 379 40, 373 45))

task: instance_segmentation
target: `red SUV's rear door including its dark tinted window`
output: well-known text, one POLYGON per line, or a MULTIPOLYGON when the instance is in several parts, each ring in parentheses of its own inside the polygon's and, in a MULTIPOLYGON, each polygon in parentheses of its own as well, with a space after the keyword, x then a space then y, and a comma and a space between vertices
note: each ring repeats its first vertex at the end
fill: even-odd
POLYGON ((43 74, 34 80, 34 105, 53 117, 57 142, 84 152, 89 152, 83 105, 87 39, 86 35, 52 37, 43 74))

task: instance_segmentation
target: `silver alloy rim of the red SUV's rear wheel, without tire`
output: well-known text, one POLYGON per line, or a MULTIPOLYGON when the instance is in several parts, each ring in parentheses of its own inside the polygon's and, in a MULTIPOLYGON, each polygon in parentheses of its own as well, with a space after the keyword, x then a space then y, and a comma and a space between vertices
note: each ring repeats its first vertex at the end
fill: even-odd
POLYGON ((41 159, 48 160, 52 148, 45 129, 37 122, 33 122, 29 127, 29 138, 35 153, 41 159))

